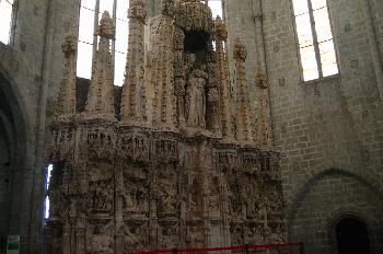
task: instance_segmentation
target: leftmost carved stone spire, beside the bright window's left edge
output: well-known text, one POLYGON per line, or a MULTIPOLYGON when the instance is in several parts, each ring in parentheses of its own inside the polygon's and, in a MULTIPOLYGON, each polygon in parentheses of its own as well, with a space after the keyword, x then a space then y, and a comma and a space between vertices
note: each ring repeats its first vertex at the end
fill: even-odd
POLYGON ((56 111, 58 115, 62 116, 76 113, 76 36, 72 34, 67 35, 61 48, 66 62, 56 111))

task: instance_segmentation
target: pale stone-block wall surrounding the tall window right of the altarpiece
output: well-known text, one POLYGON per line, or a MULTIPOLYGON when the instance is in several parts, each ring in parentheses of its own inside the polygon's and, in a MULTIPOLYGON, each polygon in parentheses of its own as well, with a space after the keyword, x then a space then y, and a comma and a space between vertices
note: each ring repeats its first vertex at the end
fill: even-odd
POLYGON ((379 1, 371 2, 378 42, 369 34, 367 1, 328 1, 340 73, 304 83, 291 1, 263 4, 271 118, 276 148, 285 154, 290 238, 306 241, 310 253, 336 251, 334 226, 327 221, 345 212, 378 215, 367 223, 381 252, 382 82, 374 67, 382 56, 372 46, 378 43, 382 49, 383 9, 379 1), (330 169, 344 173, 323 176, 330 169))

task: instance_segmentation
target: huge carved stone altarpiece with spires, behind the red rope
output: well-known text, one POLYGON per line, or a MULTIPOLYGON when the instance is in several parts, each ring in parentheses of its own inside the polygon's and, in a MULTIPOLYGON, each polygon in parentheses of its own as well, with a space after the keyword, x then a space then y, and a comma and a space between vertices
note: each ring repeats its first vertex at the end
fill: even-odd
MULTIPOLYGON (((120 114, 113 20, 105 12, 84 112, 76 112, 76 36, 51 123, 48 253, 126 253, 285 240, 279 153, 254 117, 236 39, 197 0, 130 0, 120 114), (235 88, 235 89, 233 89, 235 88), (233 92, 235 91, 235 92, 233 92)), ((265 80, 266 82, 266 80, 265 80)), ((260 114, 263 115, 263 114, 260 114)))

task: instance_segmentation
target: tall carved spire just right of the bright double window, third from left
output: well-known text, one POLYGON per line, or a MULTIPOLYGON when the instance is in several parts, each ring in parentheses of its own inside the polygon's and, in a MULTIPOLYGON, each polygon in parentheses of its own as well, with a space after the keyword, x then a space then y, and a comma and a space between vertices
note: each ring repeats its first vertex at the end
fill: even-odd
POLYGON ((129 46, 121 99, 121 120, 144 122, 146 88, 144 67, 144 23, 147 18, 144 0, 130 0, 129 3, 129 46))

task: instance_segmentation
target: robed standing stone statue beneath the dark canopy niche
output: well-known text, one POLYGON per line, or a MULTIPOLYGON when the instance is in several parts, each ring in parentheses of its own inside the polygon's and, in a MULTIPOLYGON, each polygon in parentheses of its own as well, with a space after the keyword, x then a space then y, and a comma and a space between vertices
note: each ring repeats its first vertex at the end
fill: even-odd
POLYGON ((192 71, 187 84, 187 126, 196 128, 206 128, 206 96, 208 73, 206 66, 201 65, 198 69, 192 71))

